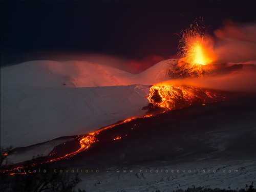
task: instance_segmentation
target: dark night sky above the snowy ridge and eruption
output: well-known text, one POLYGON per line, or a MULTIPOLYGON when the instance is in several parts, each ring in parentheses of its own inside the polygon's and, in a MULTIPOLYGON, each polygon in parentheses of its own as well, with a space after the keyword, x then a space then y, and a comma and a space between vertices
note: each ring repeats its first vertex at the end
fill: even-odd
POLYGON ((255 21, 255 7, 255 1, 1 1, 1 66, 46 50, 168 57, 177 52, 174 33, 196 17, 213 31, 225 19, 255 21))

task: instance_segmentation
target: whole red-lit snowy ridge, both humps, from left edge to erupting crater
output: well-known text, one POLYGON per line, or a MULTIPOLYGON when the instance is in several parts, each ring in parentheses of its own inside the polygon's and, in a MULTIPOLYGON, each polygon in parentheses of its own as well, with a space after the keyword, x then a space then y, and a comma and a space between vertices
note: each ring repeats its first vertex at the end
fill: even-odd
POLYGON ((154 84, 167 80, 167 69, 177 60, 165 60, 140 74, 87 61, 28 61, 1 69, 2 86, 103 87, 154 84))

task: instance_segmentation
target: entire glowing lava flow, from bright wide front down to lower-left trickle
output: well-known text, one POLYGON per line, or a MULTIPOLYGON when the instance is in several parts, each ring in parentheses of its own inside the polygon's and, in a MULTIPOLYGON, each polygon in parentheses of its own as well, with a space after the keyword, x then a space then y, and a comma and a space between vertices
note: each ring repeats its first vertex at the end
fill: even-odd
MULTIPOLYGON (((153 105, 159 106, 160 108, 162 108, 164 111, 161 111, 161 112, 165 112, 168 110, 185 108, 187 106, 191 106, 194 104, 205 104, 210 102, 217 102, 217 101, 225 100, 225 97, 222 96, 221 94, 218 94, 215 91, 205 91, 203 89, 198 89, 198 88, 193 88, 188 86, 175 87, 175 86, 156 85, 150 88, 150 96, 148 96, 147 99, 153 105)), ((153 115, 148 114, 141 118, 147 118, 151 116, 153 115)), ((56 150, 56 147, 55 147, 53 152, 51 152, 51 154, 48 155, 45 158, 45 160, 39 163, 33 163, 31 164, 31 166, 35 166, 36 164, 44 164, 44 163, 59 161, 61 159, 67 159, 75 156, 78 153, 84 152, 88 150, 88 148, 92 147, 96 142, 99 142, 100 139, 98 135, 103 130, 109 130, 117 125, 130 122, 133 119, 137 119, 137 118, 134 117, 130 119, 125 119, 119 123, 103 127, 102 129, 95 131, 93 133, 78 136, 76 137, 76 140, 79 141, 79 148, 77 150, 73 150, 72 152, 65 152, 65 155, 61 155, 61 154, 58 154, 58 150, 56 150)), ((131 130, 133 130, 133 128, 131 130)), ((122 134, 123 135, 113 138, 113 140, 119 140, 127 136, 127 134, 125 133, 122 133, 122 134)), ((61 147, 64 147, 62 148, 62 150, 63 149, 65 150, 66 149, 65 143, 64 145, 62 144, 61 147)), ((26 166, 18 166, 16 168, 7 169, 3 173, 6 173, 8 175, 23 174, 23 173, 17 173, 17 170, 25 167, 26 166)))

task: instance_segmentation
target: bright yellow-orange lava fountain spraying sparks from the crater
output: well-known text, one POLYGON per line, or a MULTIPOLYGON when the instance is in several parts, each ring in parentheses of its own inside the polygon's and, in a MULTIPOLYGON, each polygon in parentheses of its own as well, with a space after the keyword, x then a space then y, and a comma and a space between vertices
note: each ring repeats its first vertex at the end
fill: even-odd
POLYGON ((179 53, 185 62, 190 63, 190 67, 195 64, 207 65, 215 60, 214 42, 205 28, 199 29, 195 23, 182 32, 179 53))

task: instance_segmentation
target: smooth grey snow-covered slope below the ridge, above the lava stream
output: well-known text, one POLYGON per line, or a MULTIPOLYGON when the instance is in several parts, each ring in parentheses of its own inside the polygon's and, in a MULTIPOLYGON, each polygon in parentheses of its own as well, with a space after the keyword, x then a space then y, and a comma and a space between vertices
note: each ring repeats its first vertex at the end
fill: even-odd
POLYGON ((1 87, 1 146, 28 146, 86 134, 140 116, 148 86, 1 87))

